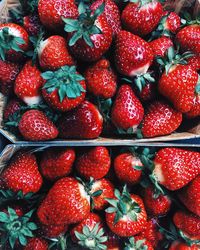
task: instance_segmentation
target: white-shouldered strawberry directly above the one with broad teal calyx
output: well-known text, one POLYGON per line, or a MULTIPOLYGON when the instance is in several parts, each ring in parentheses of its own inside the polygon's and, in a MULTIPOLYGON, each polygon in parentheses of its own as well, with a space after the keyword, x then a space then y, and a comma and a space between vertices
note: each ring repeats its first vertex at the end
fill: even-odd
POLYGON ((62 36, 50 36, 41 41, 38 56, 43 70, 56 70, 62 66, 74 64, 74 59, 67 48, 67 42, 62 36))

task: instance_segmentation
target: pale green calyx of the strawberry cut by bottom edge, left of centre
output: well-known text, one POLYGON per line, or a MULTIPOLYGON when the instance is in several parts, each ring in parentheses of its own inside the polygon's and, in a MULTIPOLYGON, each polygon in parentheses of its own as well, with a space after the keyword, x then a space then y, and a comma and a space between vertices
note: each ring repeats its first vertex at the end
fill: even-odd
POLYGON ((84 226, 82 233, 77 231, 74 233, 78 239, 78 244, 83 247, 95 250, 107 249, 104 243, 107 242, 108 238, 104 235, 105 232, 103 228, 99 227, 99 223, 97 223, 92 229, 88 226, 84 226))

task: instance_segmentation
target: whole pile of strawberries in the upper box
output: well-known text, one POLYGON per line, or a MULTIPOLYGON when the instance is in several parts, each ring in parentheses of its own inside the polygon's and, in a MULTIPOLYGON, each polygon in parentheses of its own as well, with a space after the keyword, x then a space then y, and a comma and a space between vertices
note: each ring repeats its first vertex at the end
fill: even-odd
POLYGON ((5 129, 31 141, 149 138, 198 122, 198 3, 21 2, 0 24, 5 129))

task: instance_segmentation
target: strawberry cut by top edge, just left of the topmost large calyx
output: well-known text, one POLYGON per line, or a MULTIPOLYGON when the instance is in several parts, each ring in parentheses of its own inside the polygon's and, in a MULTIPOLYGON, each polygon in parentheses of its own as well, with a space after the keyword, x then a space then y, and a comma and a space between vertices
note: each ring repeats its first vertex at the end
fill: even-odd
POLYGON ((77 18, 78 8, 74 0, 39 0, 38 13, 46 28, 56 30, 63 26, 62 17, 77 18))

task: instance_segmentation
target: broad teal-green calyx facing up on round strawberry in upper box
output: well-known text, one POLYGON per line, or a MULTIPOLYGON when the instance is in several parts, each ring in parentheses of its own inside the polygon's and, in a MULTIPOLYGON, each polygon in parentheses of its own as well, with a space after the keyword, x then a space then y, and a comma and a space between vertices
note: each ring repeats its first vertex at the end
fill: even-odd
POLYGON ((41 74, 46 80, 44 89, 48 93, 58 90, 60 102, 65 97, 69 99, 75 99, 81 96, 85 89, 80 84, 85 78, 78 74, 75 66, 63 66, 57 71, 46 71, 41 74))

